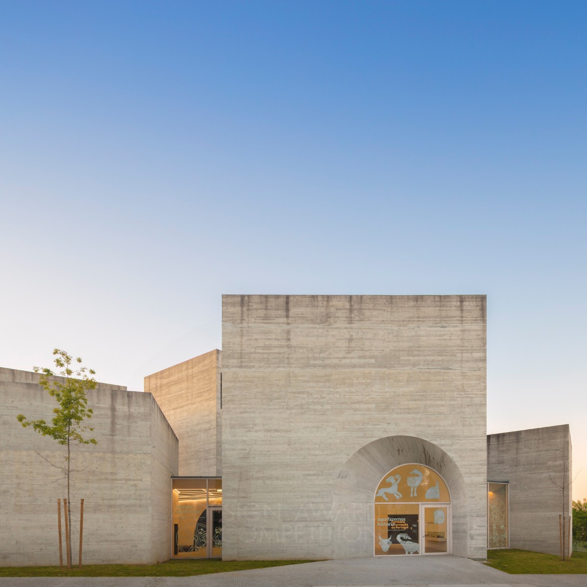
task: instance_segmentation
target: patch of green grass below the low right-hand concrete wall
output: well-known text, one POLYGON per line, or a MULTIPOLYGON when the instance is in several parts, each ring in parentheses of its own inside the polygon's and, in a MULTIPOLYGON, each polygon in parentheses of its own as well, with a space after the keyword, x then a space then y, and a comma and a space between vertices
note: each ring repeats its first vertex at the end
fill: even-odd
POLYGON ((587 574, 587 552, 573 552, 570 561, 542 552, 516 548, 487 551, 486 564, 510 575, 578 575, 587 574))

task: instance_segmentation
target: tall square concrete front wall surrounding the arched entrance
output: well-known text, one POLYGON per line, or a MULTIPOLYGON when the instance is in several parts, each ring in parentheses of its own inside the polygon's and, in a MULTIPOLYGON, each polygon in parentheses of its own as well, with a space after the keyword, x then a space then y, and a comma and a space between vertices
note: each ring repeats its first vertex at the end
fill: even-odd
POLYGON ((390 437, 420 442, 377 445, 377 470, 434 446, 460 484, 454 552, 483 558, 485 321, 482 295, 223 296, 223 558, 372 555, 364 503, 342 522, 357 538, 339 537, 339 476, 390 437))

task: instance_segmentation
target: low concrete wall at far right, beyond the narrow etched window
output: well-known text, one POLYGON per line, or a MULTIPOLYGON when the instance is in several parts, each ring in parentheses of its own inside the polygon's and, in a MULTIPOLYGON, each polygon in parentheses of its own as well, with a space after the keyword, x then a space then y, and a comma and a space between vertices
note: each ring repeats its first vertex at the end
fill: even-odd
POLYGON ((559 515, 572 516, 571 460, 568 424, 487 436, 487 478, 510 483, 510 548, 560 554, 559 515))

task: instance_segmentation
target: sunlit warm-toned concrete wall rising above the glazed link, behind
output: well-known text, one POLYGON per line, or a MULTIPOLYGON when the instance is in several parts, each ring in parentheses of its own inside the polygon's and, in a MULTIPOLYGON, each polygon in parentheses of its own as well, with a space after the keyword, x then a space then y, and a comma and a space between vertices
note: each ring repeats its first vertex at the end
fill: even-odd
POLYGON ((180 443, 179 474, 222 474, 220 350, 144 378, 180 443))

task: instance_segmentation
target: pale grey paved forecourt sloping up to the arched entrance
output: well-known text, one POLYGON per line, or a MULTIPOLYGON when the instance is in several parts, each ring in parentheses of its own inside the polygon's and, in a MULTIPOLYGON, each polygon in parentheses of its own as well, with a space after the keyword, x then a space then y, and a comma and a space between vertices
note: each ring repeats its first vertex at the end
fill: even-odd
POLYGON ((3 578, 0 587, 585 587, 587 575, 508 575, 458 556, 311 562, 193 577, 3 578))

